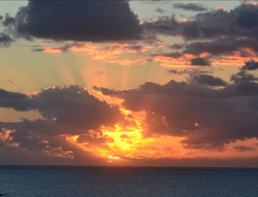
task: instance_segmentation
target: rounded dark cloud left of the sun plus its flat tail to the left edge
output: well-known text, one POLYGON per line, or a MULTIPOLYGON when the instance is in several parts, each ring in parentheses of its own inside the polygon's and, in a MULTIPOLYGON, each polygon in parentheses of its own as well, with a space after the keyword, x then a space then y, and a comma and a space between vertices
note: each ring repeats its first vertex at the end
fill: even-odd
POLYGON ((39 110, 45 119, 84 129, 97 129, 102 124, 112 126, 122 118, 118 107, 99 101, 77 85, 48 88, 31 97, 2 89, 0 106, 16 111, 39 110))

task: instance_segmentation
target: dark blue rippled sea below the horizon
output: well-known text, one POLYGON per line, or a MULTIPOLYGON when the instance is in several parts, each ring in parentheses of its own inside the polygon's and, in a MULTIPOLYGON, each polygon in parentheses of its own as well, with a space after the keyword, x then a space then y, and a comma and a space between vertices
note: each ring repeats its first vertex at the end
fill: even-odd
POLYGON ((258 168, 0 166, 0 193, 37 196, 258 196, 258 168))

